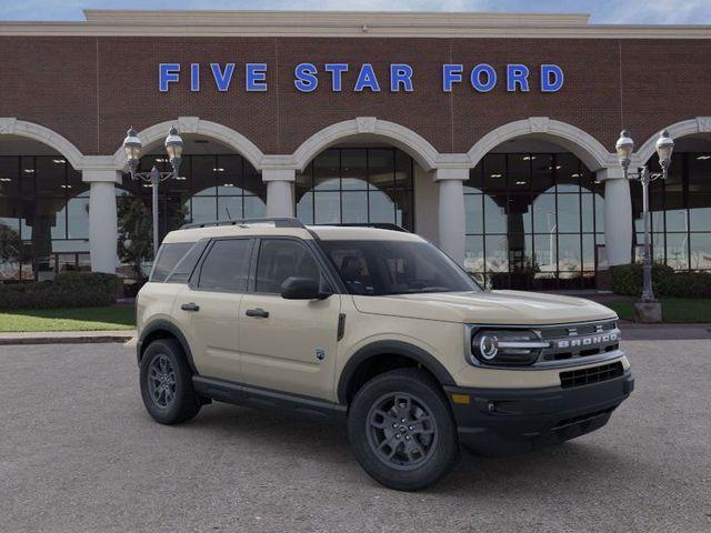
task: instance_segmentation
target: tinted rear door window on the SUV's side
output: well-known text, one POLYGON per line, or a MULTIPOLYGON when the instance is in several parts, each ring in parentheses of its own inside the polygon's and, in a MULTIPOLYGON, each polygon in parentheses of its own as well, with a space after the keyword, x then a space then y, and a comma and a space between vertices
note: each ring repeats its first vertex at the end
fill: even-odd
POLYGON ((251 248, 249 239, 214 241, 200 269, 198 286, 206 291, 244 292, 251 248))

